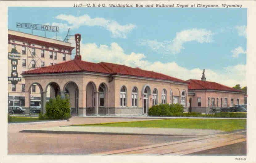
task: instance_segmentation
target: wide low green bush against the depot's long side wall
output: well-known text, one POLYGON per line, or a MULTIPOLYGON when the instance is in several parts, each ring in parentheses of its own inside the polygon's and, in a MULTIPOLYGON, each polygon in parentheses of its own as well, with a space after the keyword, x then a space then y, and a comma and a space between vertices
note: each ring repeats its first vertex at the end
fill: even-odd
POLYGON ((180 104, 160 104, 154 105, 148 109, 148 115, 152 116, 173 116, 183 113, 183 105, 180 104))

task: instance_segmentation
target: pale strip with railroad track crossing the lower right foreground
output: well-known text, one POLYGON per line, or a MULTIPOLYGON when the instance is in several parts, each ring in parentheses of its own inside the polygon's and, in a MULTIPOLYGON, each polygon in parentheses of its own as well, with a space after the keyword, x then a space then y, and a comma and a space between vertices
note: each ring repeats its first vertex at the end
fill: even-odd
POLYGON ((208 135, 182 141, 95 153, 94 155, 185 155, 246 141, 246 135, 243 134, 245 132, 208 135))

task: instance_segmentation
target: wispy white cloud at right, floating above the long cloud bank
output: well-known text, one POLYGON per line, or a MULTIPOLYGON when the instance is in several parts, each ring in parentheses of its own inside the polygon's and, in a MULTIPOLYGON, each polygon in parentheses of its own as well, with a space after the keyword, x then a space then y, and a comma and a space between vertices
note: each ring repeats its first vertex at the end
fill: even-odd
POLYGON ((189 29, 176 33, 175 38, 172 41, 158 42, 156 40, 143 40, 139 44, 147 45, 152 50, 164 54, 177 54, 184 49, 184 43, 196 41, 199 43, 213 42, 214 33, 205 29, 189 29))

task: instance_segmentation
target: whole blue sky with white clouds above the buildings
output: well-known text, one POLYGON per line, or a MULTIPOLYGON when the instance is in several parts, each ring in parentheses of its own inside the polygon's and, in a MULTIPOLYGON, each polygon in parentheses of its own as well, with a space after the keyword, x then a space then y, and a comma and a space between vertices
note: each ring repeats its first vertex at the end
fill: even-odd
MULTIPOLYGON (((246 12, 246 8, 9 7, 8 29, 18 30, 16 22, 59 26, 57 39, 64 40, 70 28, 71 35, 81 34, 84 61, 140 67, 183 80, 200 80, 205 69, 207 81, 243 87, 246 12)), ((44 36, 43 31, 33 34, 44 36)), ((46 32, 46 37, 55 38, 55 33, 46 32)))

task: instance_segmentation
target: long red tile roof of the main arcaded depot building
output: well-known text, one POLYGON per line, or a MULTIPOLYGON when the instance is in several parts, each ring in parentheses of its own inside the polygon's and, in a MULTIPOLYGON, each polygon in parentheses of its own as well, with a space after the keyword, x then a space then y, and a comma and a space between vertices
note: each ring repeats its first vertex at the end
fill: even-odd
POLYGON ((154 78, 170 80, 174 82, 188 83, 184 80, 173 78, 164 74, 156 73, 153 71, 142 70, 139 68, 132 68, 125 65, 118 65, 114 63, 92 63, 85 62, 79 59, 74 59, 67 62, 62 62, 56 65, 41 67, 34 70, 26 71, 22 74, 52 74, 52 73, 71 73, 71 72, 95 72, 104 74, 118 74, 118 75, 129 75, 136 77, 154 78))

